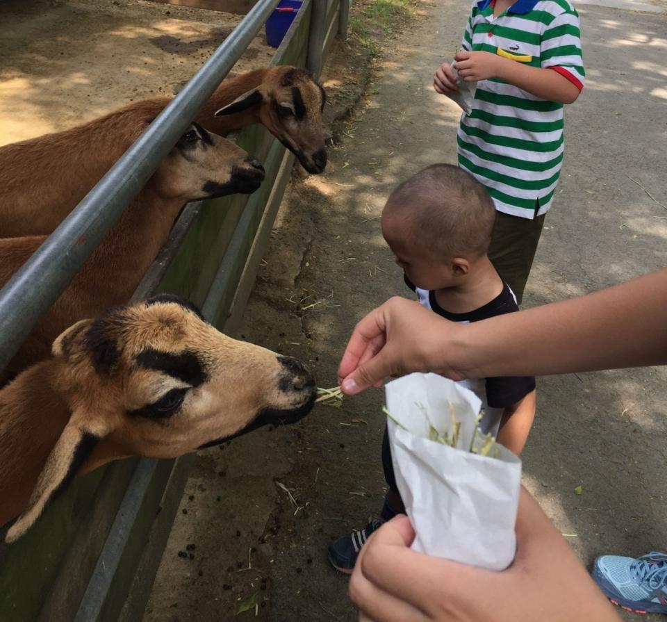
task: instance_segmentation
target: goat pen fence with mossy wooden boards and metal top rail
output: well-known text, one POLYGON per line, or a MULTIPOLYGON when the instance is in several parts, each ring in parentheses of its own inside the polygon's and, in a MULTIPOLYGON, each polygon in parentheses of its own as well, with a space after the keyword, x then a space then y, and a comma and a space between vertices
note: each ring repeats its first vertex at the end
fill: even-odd
MULTIPOLYGON (((257 3, 0 290, 0 369, 113 227, 277 2, 257 3)), ((319 74, 340 15, 347 22, 348 6, 349 0, 304 0, 270 64, 307 66, 319 74)), ((208 201, 204 208, 201 202, 188 204, 132 298, 141 300, 156 290, 190 297, 228 333, 240 324, 294 160, 261 126, 244 129, 238 142, 264 160, 262 188, 249 196, 208 201), (188 276, 192 270, 197 270, 195 284, 188 276)), ((9 548, 0 543, 0 620, 140 619, 191 463, 192 455, 175 461, 127 459, 77 478, 24 538, 9 548)))

